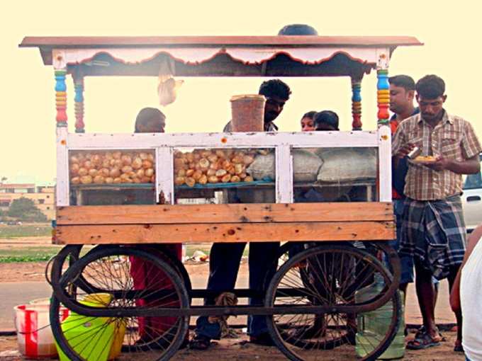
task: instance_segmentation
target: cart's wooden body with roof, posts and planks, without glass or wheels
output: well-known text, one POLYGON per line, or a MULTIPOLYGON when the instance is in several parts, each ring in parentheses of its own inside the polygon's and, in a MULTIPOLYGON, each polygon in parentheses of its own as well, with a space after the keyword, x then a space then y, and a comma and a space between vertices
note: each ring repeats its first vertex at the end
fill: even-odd
MULTIPOLYGON (((57 241, 169 243, 393 239, 391 132, 386 126, 386 79, 391 54, 400 45, 422 43, 413 37, 25 38, 20 46, 38 47, 44 64, 52 65, 56 70, 57 241), (175 76, 350 76, 360 82, 364 74, 376 69, 379 76, 379 128, 373 132, 358 130, 361 122, 357 86, 352 98, 352 106, 357 110, 354 112, 356 132, 68 133, 65 74, 77 78, 157 76, 160 65, 165 62, 172 64, 175 76), (174 205, 174 149, 248 147, 275 151, 275 204, 174 205), (376 184, 379 202, 293 204, 291 151, 305 147, 376 148, 379 154, 376 184), (69 207, 69 151, 84 149, 154 150, 157 171, 153 187, 160 205, 69 207)), ((82 92, 79 94, 77 103, 83 100, 82 92)), ((79 122, 79 132, 83 130, 81 125, 79 122)), ((374 186, 367 188, 367 193, 372 188, 374 186)))

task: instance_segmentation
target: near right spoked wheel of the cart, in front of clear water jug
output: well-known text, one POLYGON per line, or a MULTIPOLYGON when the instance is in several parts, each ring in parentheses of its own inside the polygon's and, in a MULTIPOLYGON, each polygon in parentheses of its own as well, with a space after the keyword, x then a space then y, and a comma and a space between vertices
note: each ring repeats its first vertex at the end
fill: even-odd
POLYGON ((400 322, 400 296, 388 287, 392 283, 391 274, 380 261, 359 248, 332 243, 308 248, 276 272, 265 306, 379 304, 380 309, 385 303, 383 312, 376 314, 377 332, 357 333, 365 318, 374 319, 374 311, 274 314, 267 316, 271 338, 290 360, 332 360, 335 352, 340 360, 376 360, 390 345, 400 322))

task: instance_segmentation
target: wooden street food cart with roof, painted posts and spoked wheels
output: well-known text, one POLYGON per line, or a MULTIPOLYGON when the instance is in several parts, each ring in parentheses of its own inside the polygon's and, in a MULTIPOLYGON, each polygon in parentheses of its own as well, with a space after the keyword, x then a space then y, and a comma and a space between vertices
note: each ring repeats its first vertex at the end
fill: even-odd
POLYGON ((395 238, 387 125, 388 63, 393 50, 403 45, 421 43, 411 37, 360 36, 24 38, 20 46, 38 47, 55 74, 54 242, 65 248, 52 260, 48 273, 53 290, 51 326, 62 352, 71 360, 168 360, 185 339, 191 316, 255 314, 266 316, 271 338, 291 360, 334 360, 337 355, 340 360, 355 355, 375 360, 381 355, 400 322, 400 263, 386 245, 395 238), (85 131, 86 77, 158 76, 162 67, 176 78, 349 76, 352 131, 85 131), (367 131, 361 123, 361 80, 372 70, 378 78, 374 91, 379 126, 367 131), (75 132, 67 127, 69 76, 75 132), (370 149, 376 163, 372 176, 349 181, 297 178, 297 150, 347 147, 352 154, 368 154, 363 151, 370 149), (269 154, 272 177, 253 178, 248 166, 269 154), (196 168, 195 161, 210 156, 206 168, 196 168), (187 171, 198 170, 203 176, 211 164, 222 168, 221 160, 240 164, 240 171, 228 173, 224 168, 223 175, 215 173, 217 181, 187 181, 187 171), (179 174, 184 178, 179 180, 179 174), (230 178, 222 181, 226 174, 230 178), (327 195, 347 187, 356 189, 356 196, 344 202, 336 197, 328 197, 331 202, 294 202, 297 191, 311 187, 327 195), (227 195, 233 189, 260 196, 254 202, 230 203, 227 195), (182 204, 183 199, 217 204, 182 204), (193 299, 213 292, 192 289, 179 260, 148 246, 266 241, 285 243, 266 287, 226 290, 239 298, 261 295, 264 306, 195 305, 193 299), (310 246, 290 253, 296 243, 310 246), (83 251, 84 245, 95 247, 83 251), (135 259, 148 265, 146 279, 164 281, 140 286, 133 275, 135 259), (368 323, 369 317, 364 321, 363 315, 373 316, 383 305, 386 319, 381 331, 364 336, 361 323, 368 323), (64 307, 70 310, 67 319, 64 307), (142 338, 141 329, 155 319, 168 326, 142 338), (304 331, 317 322, 319 332, 306 336, 304 331))

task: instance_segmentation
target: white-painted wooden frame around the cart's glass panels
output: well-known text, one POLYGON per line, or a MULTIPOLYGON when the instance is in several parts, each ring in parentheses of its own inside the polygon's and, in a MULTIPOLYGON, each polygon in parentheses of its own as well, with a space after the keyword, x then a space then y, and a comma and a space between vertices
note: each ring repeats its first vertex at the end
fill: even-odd
MULTIPOLYGON (((174 204, 174 148, 272 148, 276 152, 276 202, 293 202, 291 149, 304 147, 376 147, 379 149, 379 200, 391 201, 391 137, 382 126, 376 132, 252 132, 252 133, 155 133, 155 134, 67 134, 67 149, 156 149, 156 197, 174 204), (139 144, 142 144, 140 147, 139 144)), ((68 168, 57 170, 61 180, 57 192, 68 195, 68 168)), ((60 198, 59 200, 63 200, 60 198)), ((57 202, 59 206, 69 205, 57 202)))

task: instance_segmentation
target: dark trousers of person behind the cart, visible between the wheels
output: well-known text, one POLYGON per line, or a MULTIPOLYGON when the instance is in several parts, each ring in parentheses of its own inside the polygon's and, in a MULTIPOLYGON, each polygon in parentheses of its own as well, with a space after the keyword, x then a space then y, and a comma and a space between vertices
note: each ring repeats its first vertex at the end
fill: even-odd
MULTIPOLYGON (((235 288, 237 272, 240 269, 242 253, 246 243, 214 243, 211 247, 209 260, 208 290, 219 293, 235 288)), ((250 243, 250 289, 264 291, 264 280, 269 280, 276 272, 276 256, 279 242, 250 243)), ((264 293, 263 293, 264 294, 264 293)), ((256 297, 249 300, 252 306, 263 305, 264 298, 256 297)), ((205 299, 204 304, 214 304, 214 299, 205 299)), ((259 336, 268 331, 266 316, 248 316, 247 332, 250 336, 259 336)), ((196 322, 196 334, 220 338, 218 323, 209 323, 206 316, 201 316, 196 322)))

